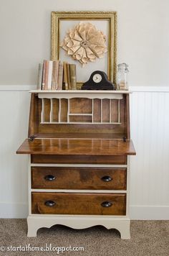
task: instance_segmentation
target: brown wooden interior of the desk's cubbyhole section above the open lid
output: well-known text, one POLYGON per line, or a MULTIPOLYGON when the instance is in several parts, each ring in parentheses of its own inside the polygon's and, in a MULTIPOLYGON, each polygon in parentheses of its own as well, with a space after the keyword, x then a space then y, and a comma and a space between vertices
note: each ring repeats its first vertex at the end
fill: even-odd
MULTIPOLYGON (((70 113, 73 114, 91 114, 92 106, 90 99, 71 99, 70 100, 70 113)), ((52 122, 59 121, 59 101, 57 99, 52 100, 44 99, 44 122, 49 122, 50 110, 52 109, 52 122)), ((77 122, 77 124, 50 124, 42 123, 42 99, 39 99, 37 94, 32 93, 30 118, 29 118, 29 136, 39 134, 44 134, 44 137, 48 137, 48 134, 79 134, 78 137, 87 137, 88 134, 99 134, 101 137, 121 138, 127 137, 130 139, 129 135, 129 99, 124 93, 123 98, 120 100, 120 123, 112 124, 112 122, 118 122, 118 101, 103 99, 102 100, 102 115, 101 115, 101 101, 100 99, 94 99, 93 110, 94 116, 93 121, 99 124, 92 124, 91 116, 69 116, 71 122, 77 122), (110 115, 110 107, 112 109, 110 115), (103 124, 100 124, 101 117, 103 124), (78 124, 78 122, 86 124, 78 124), (110 122, 110 124, 107 124, 110 122), (103 134, 103 136, 102 136, 103 134)), ((60 100, 60 122, 67 122, 67 99, 60 100)), ((61 135, 62 136, 62 135, 61 135)))

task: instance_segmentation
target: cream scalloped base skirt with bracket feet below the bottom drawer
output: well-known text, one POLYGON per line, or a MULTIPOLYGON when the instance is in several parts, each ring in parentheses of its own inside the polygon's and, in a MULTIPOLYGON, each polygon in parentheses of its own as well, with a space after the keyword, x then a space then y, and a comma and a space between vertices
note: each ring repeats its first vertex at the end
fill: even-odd
POLYGON ((79 215, 30 215, 27 217, 28 237, 37 237, 37 230, 42 227, 52 227, 56 224, 71 227, 73 229, 86 229, 96 225, 107 229, 117 229, 121 239, 130 239, 130 219, 115 218, 115 216, 79 216, 79 215))

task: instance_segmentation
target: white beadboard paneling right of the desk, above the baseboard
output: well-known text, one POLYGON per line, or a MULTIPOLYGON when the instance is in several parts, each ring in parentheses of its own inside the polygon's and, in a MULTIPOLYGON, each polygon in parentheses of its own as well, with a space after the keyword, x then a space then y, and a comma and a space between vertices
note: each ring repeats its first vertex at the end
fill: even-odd
POLYGON ((169 93, 134 92, 130 98, 131 137, 137 152, 130 165, 130 204, 168 206, 169 93))

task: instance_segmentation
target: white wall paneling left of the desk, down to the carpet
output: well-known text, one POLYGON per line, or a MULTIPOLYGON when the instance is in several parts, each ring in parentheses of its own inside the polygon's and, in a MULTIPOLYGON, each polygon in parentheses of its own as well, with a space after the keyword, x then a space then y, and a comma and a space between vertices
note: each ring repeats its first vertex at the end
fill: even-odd
POLYGON ((0 217, 9 216, 4 204, 9 204, 6 210, 13 209, 14 213, 18 204, 28 201, 27 156, 16 155, 16 150, 27 137, 29 101, 27 91, 0 92, 0 217))

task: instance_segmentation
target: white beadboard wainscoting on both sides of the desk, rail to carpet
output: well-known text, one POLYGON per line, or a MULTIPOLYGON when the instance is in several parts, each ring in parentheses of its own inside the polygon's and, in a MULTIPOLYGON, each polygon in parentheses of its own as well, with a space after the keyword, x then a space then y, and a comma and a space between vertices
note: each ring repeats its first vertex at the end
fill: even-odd
MULTIPOLYGON (((27 137, 29 90, 36 86, 0 86, 0 217, 25 218, 27 160, 16 150, 27 137)), ((169 88, 169 87, 168 87, 169 88)), ((131 87, 131 219, 168 219, 169 93, 167 87, 131 87), (160 91, 159 91, 160 90, 160 91)))

